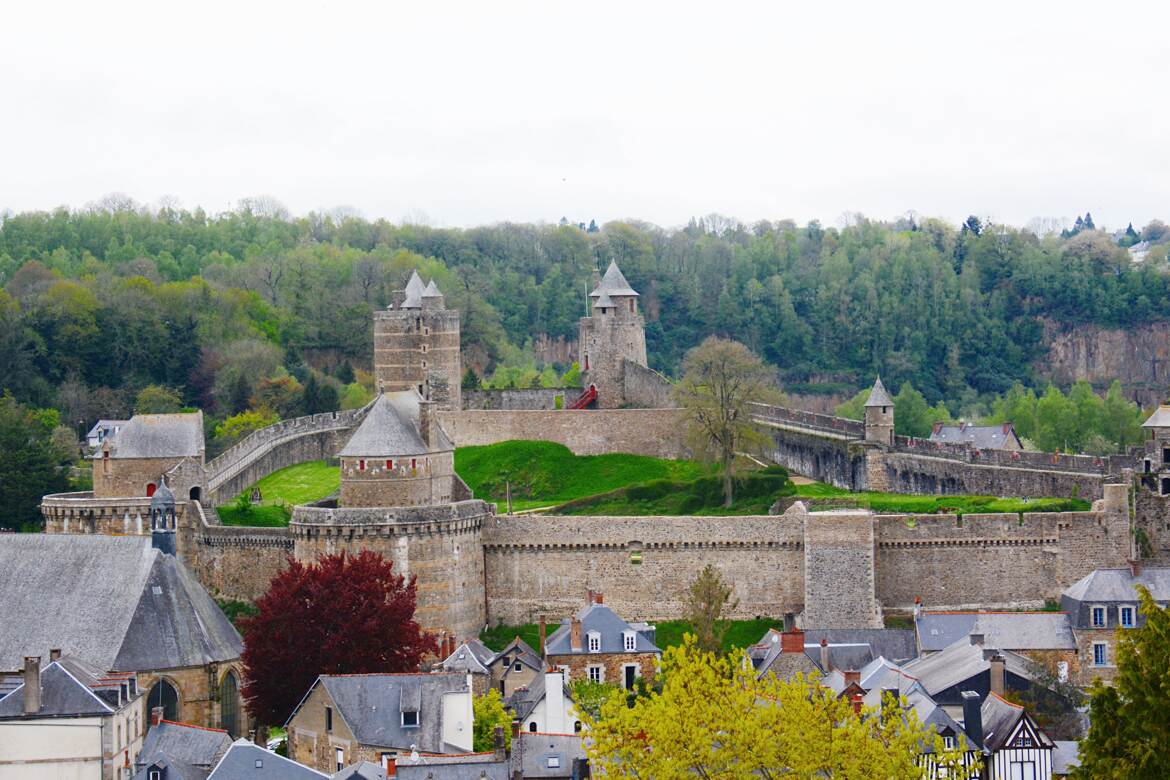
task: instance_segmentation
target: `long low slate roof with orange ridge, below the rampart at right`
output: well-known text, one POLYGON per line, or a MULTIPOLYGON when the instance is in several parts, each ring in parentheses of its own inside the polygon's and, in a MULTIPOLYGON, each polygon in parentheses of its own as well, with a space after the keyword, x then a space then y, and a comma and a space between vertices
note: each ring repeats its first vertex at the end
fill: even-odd
POLYGON ((1072 621, 1062 612, 923 612, 914 621, 918 647, 937 653, 971 634, 1004 650, 1075 650, 1072 621))

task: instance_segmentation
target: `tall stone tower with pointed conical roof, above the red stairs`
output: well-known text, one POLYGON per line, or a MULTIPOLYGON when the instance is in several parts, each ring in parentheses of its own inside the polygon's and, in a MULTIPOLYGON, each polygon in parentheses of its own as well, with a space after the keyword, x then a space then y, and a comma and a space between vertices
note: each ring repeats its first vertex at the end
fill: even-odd
POLYGON ((580 320, 581 381, 597 386, 598 406, 617 408, 625 401, 626 364, 647 367, 646 320, 617 262, 589 297, 591 316, 580 320))

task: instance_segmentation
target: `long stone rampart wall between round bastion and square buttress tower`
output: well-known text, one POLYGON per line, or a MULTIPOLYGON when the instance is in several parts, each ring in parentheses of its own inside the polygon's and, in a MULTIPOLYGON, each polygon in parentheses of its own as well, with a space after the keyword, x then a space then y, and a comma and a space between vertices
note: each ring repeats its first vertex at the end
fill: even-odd
POLYGON ((736 617, 804 601, 801 524, 785 517, 496 516, 483 548, 493 623, 571 615, 590 589, 628 620, 676 619, 707 564, 734 586, 736 617))

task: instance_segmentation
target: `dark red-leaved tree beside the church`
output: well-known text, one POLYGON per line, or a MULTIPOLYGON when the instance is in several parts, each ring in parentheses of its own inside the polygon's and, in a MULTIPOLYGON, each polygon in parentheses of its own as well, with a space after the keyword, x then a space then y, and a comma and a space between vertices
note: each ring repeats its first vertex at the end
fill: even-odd
POLYGON ((295 560, 273 578, 243 629, 243 697, 263 724, 282 724, 317 675, 414 671, 434 637, 414 622, 414 579, 369 550, 295 560))

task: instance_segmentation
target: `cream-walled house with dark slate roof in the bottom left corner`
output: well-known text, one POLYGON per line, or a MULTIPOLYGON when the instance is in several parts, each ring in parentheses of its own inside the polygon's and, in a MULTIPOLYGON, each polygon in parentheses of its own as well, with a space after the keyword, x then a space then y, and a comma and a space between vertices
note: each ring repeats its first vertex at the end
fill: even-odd
POLYGON ((0 778, 124 776, 145 723, 133 674, 102 672, 78 658, 25 658, 20 677, 0 678, 0 778))

